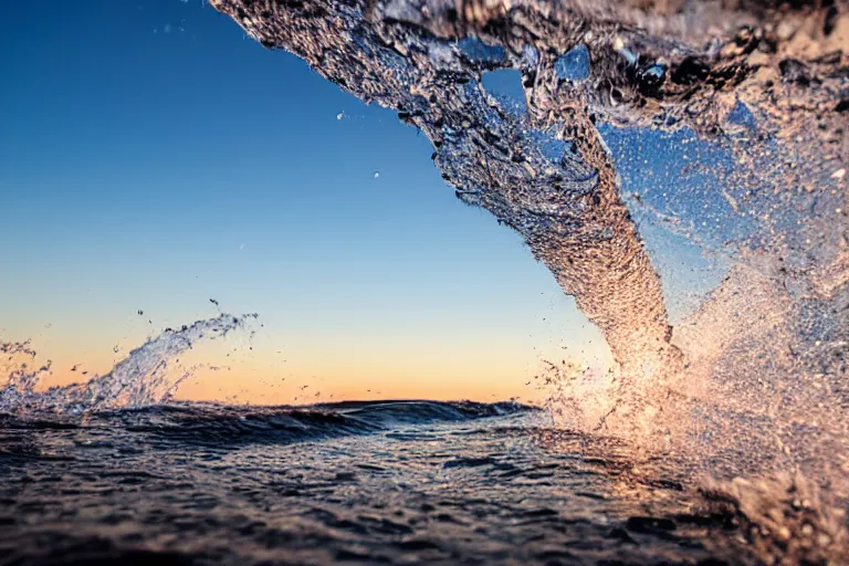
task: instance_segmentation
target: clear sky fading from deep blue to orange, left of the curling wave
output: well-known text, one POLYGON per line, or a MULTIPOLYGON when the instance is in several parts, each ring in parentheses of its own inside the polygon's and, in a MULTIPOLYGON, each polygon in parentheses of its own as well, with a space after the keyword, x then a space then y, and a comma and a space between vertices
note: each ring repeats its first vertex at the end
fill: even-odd
POLYGON ((423 137, 200 0, 3 2, 0 72, 0 339, 56 382, 209 298, 263 326, 188 398, 527 398, 563 345, 609 359, 423 137))

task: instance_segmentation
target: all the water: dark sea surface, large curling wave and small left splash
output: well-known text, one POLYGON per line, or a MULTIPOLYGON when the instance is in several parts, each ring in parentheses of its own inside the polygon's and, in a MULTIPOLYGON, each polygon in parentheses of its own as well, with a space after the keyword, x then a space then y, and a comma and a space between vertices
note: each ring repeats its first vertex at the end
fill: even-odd
POLYGON ((0 563, 849 563, 845 1, 210 4, 418 128, 616 364, 232 407, 174 401, 179 359, 255 315, 46 390, 3 343, 0 563))

